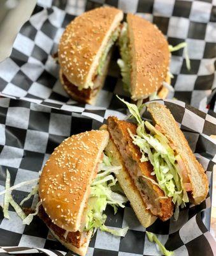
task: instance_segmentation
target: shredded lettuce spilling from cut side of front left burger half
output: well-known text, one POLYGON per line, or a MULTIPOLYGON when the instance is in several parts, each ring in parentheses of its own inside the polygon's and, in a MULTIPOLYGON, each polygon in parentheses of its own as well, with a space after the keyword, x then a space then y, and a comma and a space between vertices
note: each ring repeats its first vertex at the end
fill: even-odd
POLYGON ((111 173, 118 172, 121 166, 112 166, 110 159, 104 155, 103 164, 100 164, 99 168, 100 172, 97 174, 90 188, 85 230, 94 230, 95 232, 96 229, 99 228, 115 236, 125 236, 127 228, 113 230, 106 227, 104 223, 107 216, 103 214, 106 205, 112 205, 116 213, 117 208, 123 208, 124 203, 127 202, 126 196, 112 191, 112 188, 117 184, 117 179, 115 179, 111 173))

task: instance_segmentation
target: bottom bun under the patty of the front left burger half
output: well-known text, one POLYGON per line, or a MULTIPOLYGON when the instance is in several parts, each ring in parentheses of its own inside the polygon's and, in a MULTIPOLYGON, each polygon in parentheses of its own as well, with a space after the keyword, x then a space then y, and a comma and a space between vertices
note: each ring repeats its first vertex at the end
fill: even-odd
POLYGON ((86 239, 86 243, 83 244, 82 246, 80 246, 80 248, 77 248, 76 246, 74 246, 73 244, 71 243, 66 243, 65 241, 62 241, 61 238, 59 238, 55 232, 49 228, 50 232, 52 233, 52 235, 62 244, 64 245, 66 248, 68 248, 69 250, 71 250, 72 252, 75 252, 77 253, 78 255, 80 256, 85 256, 86 253, 87 253, 87 250, 89 248, 89 243, 90 243, 90 237, 92 236, 92 232, 89 232, 86 239))

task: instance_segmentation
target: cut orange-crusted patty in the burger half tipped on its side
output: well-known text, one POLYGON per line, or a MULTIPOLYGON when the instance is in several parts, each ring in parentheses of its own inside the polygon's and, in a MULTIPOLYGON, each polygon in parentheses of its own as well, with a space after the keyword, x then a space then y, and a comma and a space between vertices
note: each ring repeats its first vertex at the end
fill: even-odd
MULTIPOLYGON (((133 144, 128 131, 136 133, 136 125, 126 121, 118 120, 115 117, 108 118, 108 131, 112 136, 112 140, 119 149, 120 155, 126 166, 134 187, 140 192, 145 207, 161 220, 168 220, 173 214, 173 204, 171 198, 164 195, 164 192, 152 184, 152 182, 144 177, 151 178, 150 173, 153 172, 153 166, 149 161, 141 163, 141 152, 137 146, 133 144)), ((156 179, 152 177, 152 179, 156 179)), ((151 180, 152 180, 151 179, 151 180)))

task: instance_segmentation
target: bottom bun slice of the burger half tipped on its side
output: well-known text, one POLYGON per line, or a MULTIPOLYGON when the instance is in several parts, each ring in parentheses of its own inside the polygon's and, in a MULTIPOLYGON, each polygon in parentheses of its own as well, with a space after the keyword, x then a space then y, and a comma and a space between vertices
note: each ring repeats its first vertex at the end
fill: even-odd
MULTIPOLYGON (((107 125, 102 125, 100 129, 107 129, 107 125)), ((129 202, 131 203, 131 206, 133 207, 136 217, 140 221, 141 225, 145 228, 149 227, 157 218, 146 209, 140 192, 134 185, 129 172, 127 171, 127 168, 122 161, 120 152, 113 143, 112 139, 108 141, 108 145, 104 151, 108 156, 112 158, 112 164, 122 166, 122 169, 119 170, 119 174, 116 174, 116 177, 119 180, 119 184, 126 194, 129 202)))

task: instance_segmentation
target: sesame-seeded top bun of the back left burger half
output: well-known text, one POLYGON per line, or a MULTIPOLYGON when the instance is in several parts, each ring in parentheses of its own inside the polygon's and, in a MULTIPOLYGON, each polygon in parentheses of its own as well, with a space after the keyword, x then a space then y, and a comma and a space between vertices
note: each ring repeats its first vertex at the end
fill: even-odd
POLYGON ((58 55, 62 72, 72 84, 80 89, 93 86, 99 58, 122 19, 122 11, 101 7, 82 13, 69 23, 62 34, 58 55))

